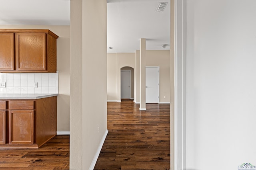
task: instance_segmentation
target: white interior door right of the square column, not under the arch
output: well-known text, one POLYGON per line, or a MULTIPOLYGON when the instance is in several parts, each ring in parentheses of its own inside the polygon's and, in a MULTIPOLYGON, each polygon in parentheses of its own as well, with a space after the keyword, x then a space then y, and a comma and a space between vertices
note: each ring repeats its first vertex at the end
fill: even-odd
POLYGON ((159 103, 159 67, 146 67, 146 103, 159 103))

